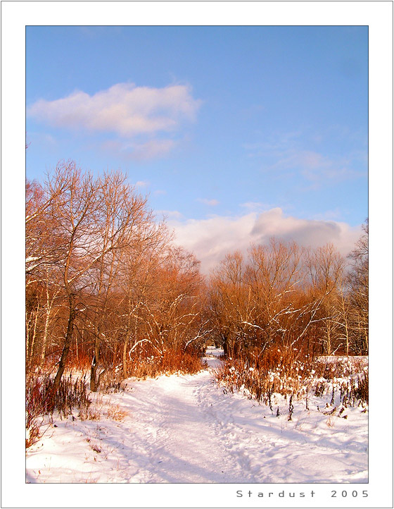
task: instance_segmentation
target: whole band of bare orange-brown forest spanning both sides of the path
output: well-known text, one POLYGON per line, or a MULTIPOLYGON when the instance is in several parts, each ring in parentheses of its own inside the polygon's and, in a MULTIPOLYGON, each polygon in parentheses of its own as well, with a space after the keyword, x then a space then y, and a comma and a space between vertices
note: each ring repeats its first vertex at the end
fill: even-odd
POLYGON ((368 354, 367 221, 347 257, 272 238, 208 276, 199 265, 121 172, 63 161, 27 181, 27 427, 43 407, 71 404, 72 372, 95 392, 196 373, 207 345, 261 374, 368 354))

